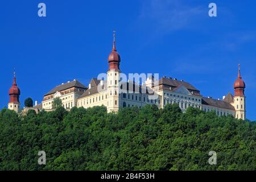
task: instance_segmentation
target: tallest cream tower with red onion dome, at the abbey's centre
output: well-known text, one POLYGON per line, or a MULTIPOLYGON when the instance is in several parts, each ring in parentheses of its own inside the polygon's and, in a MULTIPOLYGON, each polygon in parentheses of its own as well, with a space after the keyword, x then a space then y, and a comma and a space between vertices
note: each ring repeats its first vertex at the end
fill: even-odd
POLYGON ((119 69, 121 58, 115 48, 115 31, 112 52, 109 54, 109 71, 107 76, 107 90, 108 90, 108 111, 118 111, 119 107, 119 69))

